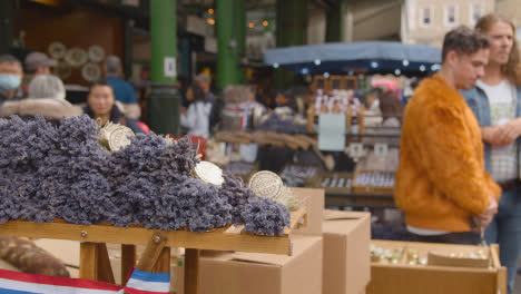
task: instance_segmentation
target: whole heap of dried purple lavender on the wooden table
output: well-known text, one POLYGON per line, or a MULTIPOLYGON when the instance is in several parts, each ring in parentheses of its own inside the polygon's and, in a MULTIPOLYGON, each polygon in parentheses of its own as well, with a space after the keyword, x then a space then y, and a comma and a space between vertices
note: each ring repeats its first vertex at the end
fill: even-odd
POLYGON ((41 116, 0 119, 0 223, 62 218, 193 232, 236 223, 266 235, 289 226, 286 207, 256 200, 239 178, 224 174, 220 188, 195 178, 199 159, 189 138, 167 143, 138 134, 109 151, 98 143, 99 130, 85 115, 59 127, 41 116))

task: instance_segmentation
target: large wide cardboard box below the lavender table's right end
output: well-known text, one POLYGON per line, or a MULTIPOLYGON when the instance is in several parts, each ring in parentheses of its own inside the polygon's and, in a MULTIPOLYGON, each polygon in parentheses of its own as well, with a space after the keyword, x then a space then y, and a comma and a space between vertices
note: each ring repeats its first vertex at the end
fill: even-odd
MULTIPOLYGON (((199 259, 200 294, 317 294, 322 293, 320 236, 293 236, 293 256, 256 253, 214 253, 199 259)), ((177 293, 184 274, 177 272, 177 293)))

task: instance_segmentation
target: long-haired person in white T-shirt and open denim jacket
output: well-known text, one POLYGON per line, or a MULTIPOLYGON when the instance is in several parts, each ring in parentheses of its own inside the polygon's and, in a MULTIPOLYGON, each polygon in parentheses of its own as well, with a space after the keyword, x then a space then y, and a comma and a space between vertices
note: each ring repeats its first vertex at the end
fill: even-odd
POLYGON ((482 17, 475 29, 490 38, 484 76, 463 92, 481 126, 486 170, 503 190, 498 215, 485 232, 489 243, 500 244, 501 264, 508 268, 512 292, 521 252, 521 69, 512 22, 495 16, 482 17))

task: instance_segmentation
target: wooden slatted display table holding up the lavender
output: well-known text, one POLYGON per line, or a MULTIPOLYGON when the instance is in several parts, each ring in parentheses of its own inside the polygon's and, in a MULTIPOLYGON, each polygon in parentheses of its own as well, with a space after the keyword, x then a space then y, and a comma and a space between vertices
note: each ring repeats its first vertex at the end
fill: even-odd
POLYGON ((0 235, 80 241, 80 278, 115 284, 106 243, 121 244, 121 285, 136 265, 136 245, 146 245, 137 268, 153 273, 169 273, 170 247, 186 248, 186 294, 196 294, 200 249, 237 251, 292 255, 289 233, 306 224, 306 212, 292 213, 291 229, 283 236, 253 235, 239 228, 215 228, 207 233, 160 231, 110 225, 75 225, 11 220, 0 225, 0 235))

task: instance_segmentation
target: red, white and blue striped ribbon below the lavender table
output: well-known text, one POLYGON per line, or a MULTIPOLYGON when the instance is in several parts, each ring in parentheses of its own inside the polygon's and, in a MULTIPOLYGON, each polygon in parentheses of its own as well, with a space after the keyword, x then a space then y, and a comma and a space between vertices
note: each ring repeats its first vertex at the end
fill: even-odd
POLYGON ((26 274, 0 270, 2 294, 168 294, 170 274, 134 270, 125 287, 81 278, 26 274))

